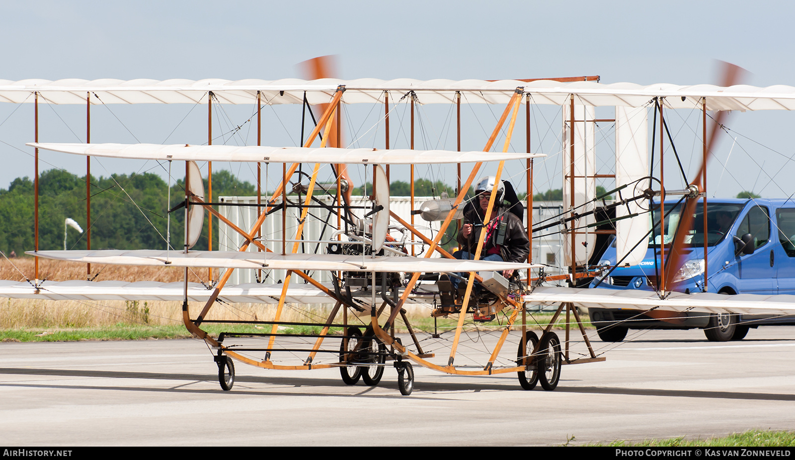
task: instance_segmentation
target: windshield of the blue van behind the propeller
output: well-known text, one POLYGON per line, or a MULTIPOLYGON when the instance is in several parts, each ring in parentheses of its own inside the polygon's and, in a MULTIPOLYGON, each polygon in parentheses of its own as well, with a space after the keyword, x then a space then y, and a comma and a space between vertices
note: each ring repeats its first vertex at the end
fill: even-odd
MULTIPOLYGON (((657 209, 650 213, 652 222, 657 222, 660 219, 659 203, 656 203, 657 209)), ((708 203, 707 206, 707 245, 714 246, 723 241, 726 234, 729 232, 731 225, 737 219, 739 212, 743 210, 742 203, 727 204, 727 203, 708 203)), ((659 245, 662 242, 670 244, 673 242, 673 235, 676 234, 677 226, 681 220, 681 212, 684 209, 684 203, 674 205, 673 203, 665 203, 665 218, 663 224, 664 238, 661 238, 660 227, 655 226, 652 236, 649 239, 650 245, 659 245), (673 211, 671 211, 673 207, 673 211), (669 214, 670 211, 670 214, 669 214)), ((696 204, 696 214, 693 216, 692 228, 688 231, 687 236, 684 238, 684 244, 690 246, 704 246, 704 203, 696 204)))

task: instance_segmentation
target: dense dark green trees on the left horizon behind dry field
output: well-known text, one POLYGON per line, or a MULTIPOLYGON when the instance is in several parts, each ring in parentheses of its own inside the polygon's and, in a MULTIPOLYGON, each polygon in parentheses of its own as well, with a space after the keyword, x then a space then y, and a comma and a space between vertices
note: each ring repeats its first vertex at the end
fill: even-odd
MULTIPOLYGON (((214 201, 220 195, 254 195, 254 185, 238 180, 231 172, 213 174, 214 201)), ((204 180, 207 187, 207 180, 204 180)), ((62 249, 64 219, 73 218, 87 230, 85 177, 60 169, 39 177, 39 248, 62 249)), ((184 200, 184 184, 168 187, 156 174, 114 174, 91 177, 91 249, 165 248, 168 209, 184 200)), ((21 254, 35 248, 33 235, 33 181, 15 179, 8 190, 0 189, 0 250, 21 254)), ((171 245, 180 248, 184 239, 184 212, 173 213, 171 245)), ((213 219, 214 230, 218 220, 213 219)), ((207 225, 196 249, 207 249, 207 225)), ((213 239, 217 242, 218 232, 213 239)), ((87 249, 87 232, 68 230, 68 249, 87 249)), ((217 244, 214 245, 217 247, 217 244)))

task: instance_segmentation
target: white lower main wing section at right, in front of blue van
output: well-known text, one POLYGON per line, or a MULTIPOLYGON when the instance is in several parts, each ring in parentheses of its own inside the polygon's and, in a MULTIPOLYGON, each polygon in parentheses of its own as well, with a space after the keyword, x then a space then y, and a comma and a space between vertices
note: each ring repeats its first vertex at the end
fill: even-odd
POLYGON ((577 307, 586 308, 631 308, 664 311, 707 311, 710 313, 785 313, 795 314, 795 296, 759 296, 739 294, 724 296, 712 292, 671 292, 660 299, 657 292, 636 289, 578 289, 539 286, 524 296, 528 303, 572 302, 577 307))

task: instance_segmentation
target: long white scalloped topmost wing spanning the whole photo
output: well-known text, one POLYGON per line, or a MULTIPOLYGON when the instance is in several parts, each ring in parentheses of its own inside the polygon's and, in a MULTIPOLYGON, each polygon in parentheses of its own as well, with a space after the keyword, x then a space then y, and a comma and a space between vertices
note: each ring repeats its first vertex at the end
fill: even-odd
POLYGON ((398 102, 401 96, 412 93, 423 104, 445 103, 489 103, 504 104, 514 95, 517 87, 532 95, 533 103, 562 105, 576 95, 578 103, 588 106, 633 106, 648 105, 650 99, 661 97, 666 107, 692 109, 704 101, 707 110, 793 110, 795 109, 795 87, 777 85, 751 87, 735 85, 716 87, 712 85, 681 86, 669 83, 638 85, 634 83, 596 83, 577 81, 563 83, 553 80, 523 82, 520 80, 448 80, 448 79, 27 79, 17 82, 0 80, 0 101, 22 103, 33 102, 34 92, 43 95, 51 104, 86 103, 86 93, 96 95, 99 100, 91 103, 137 104, 137 103, 191 103, 207 100, 207 92, 223 104, 252 104, 257 95, 262 103, 322 104, 331 99, 339 86, 345 87, 343 102, 383 103, 384 92, 390 100, 398 102), (459 95, 463 97, 459 98, 459 95), (306 98, 306 99, 304 99, 306 98), (101 102, 99 102, 101 101, 101 102))

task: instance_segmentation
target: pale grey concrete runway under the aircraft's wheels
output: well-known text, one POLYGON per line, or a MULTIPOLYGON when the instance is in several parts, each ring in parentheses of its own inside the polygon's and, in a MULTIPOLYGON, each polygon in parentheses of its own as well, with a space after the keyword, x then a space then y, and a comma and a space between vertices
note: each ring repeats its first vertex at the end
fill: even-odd
MULTIPOLYGON (((456 364, 485 361, 494 338, 467 339, 456 364)), ((506 358, 517 340, 512 334, 506 358)), ((446 363, 444 343, 424 346, 446 363)), ((572 436, 579 444, 795 428, 795 327, 752 329, 724 343, 697 330, 646 331, 594 346, 607 361, 564 365, 553 392, 524 391, 514 373, 457 377, 415 365, 414 392, 401 396, 391 367, 370 388, 344 385, 339 369, 242 363, 235 388, 223 392, 210 351, 196 340, 6 342, 0 443, 561 445, 572 436)))

